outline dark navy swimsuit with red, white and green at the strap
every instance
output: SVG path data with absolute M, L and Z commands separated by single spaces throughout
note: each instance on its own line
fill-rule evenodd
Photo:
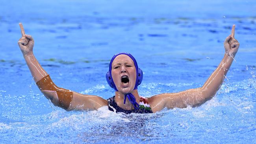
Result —
M 108 109 L 110 111 L 119 113 L 126 113 L 126 114 L 130 114 L 130 113 L 153 113 L 150 105 L 148 104 L 148 100 L 147 98 L 143 98 L 140 97 L 140 101 L 139 101 L 139 109 L 133 109 L 133 110 L 125 110 L 122 109 L 121 107 L 119 107 L 117 105 L 117 102 L 115 102 L 115 96 L 111 97 L 108 99 Z

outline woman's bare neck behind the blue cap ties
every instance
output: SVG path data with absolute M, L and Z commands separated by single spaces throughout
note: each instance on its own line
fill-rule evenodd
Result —
M 136 102 L 139 103 L 140 98 L 139 98 L 138 90 L 135 89 L 131 93 L 134 95 Z M 134 105 L 128 100 L 128 98 L 126 98 L 126 101 L 124 104 L 124 94 L 122 94 L 119 91 L 115 92 L 115 101 L 117 102 L 117 105 L 122 109 L 126 109 L 126 110 L 134 109 Z

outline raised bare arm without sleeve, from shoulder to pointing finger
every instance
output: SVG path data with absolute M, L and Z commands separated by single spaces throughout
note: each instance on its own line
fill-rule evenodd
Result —
M 168 109 L 174 107 L 184 108 L 188 105 L 196 107 L 210 100 L 221 87 L 224 77 L 239 48 L 239 42 L 234 38 L 234 35 L 235 25 L 232 27 L 231 35 L 224 41 L 225 54 L 221 63 L 202 87 L 178 93 L 166 93 L 152 96 L 148 99 L 152 111 L 161 111 L 165 107 Z

